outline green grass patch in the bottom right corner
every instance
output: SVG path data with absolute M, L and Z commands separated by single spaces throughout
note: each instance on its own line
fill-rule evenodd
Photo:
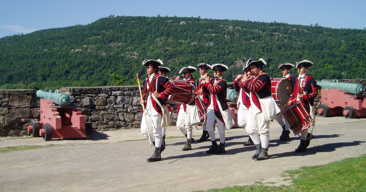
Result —
M 366 155 L 358 158 L 347 158 L 332 162 L 327 165 L 300 167 L 297 170 L 285 171 L 282 177 L 291 178 L 290 186 L 269 186 L 274 182 L 263 183 L 256 181 L 253 185 L 225 187 L 222 189 L 210 189 L 210 192 L 246 192 L 246 191 L 366 191 Z

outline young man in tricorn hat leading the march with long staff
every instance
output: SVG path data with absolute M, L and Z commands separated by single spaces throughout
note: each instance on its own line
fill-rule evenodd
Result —
M 143 100 L 140 104 L 145 104 L 146 108 L 143 111 L 141 122 L 141 133 L 143 136 L 148 136 L 148 134 L 153 134 L 152 141 L 154 141 L 155 149 L 153 155 L 147 159 L 147 162 L 155 162 L 161 160 L 161 151 L 164 150 L 165 146 L 162 145 L 163 135 L 161 133 L 161 121 L 162 121 L 162 109 L 160 105 L 166 105 L 164 99 L 174 93 L 175 87 L 168 80 L 167 77 L 161 76 L 157 73 L 158 66 L 162 65 L 163 62 L 152 59 L 145 59 L 142 62 L 143 66 L 146 66 L 147 78 L 143 81 Z M 154 97 L 156 98 L 154 98 Z M 159 102 L 159 104 L 157 103 Z M 152 133 L 150 129 L 152 128 Z M 149 130 L 149 131 L 148 131 Z

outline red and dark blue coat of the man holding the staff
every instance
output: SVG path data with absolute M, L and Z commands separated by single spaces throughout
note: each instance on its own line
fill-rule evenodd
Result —
M 175 87 L 174 85 L 168 80 L 167 77 L 163 76 L 163 75 L 159 75 L 158 73 L 156 73 L 154 75 L 155 78 L 153 78 L 153 82 L 150 83 L 150 86 L 152 86 L 150 93 L 153 94 L 155 91 L 157 91 L 161 98 L 157 98 L 157 100 L 160 102 L 160 104 L 163 105 L 167 105 L 167 103 L 164 101 L 164 99 L 166 97 L 168 97 L 169 95 L 172 95 L 175 92 Z M 149 78 L 149 77 L 147 77 Z M 146 105 L 146 101 L 147 98 L 145 98 L 145 93 L 147 92 L 147 88 L 146 88 L 146 80 L 147 78 L 143 81 L 143 94 L 142 94 L 142 98 L 145 101 L 145 105 Z M 154 109 L 159 113 L 161 113 L 161 108 L 160 106 L 156 103 L 156 101 L 154 100 L 154 98 L 152 96 L 151 97 L 151 102 L 153 104 Z

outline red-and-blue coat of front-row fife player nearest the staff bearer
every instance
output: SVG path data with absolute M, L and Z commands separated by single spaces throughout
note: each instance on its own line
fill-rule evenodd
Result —
M 221 108 L 224 111 L 228 110 L 229 107 L 228 107 L 228 104 L 226 102 L 227 84 L 226 84 L 225 80 L 220 81 L 215 86 L 213 86 L 213 84 L 214 84 L 214 79 L 212 78 L 210 80 L 210 82 L 206 83 L 203 86 L 202 93 L 204 95 L 210 95 L 211 94 L 212 101 L 213 101 L 214 113 L 215 113 L 216 117 L 219 118 L 220 121 L 222 121 L 224 123 L 223 116 L 221 115 L 221 112 L 219 111 L 218 103 L 220 104 Z M 214 95 L 217 95 L 217 99 L 219 99 L 219 102 L 217 102 L 216 97 Z M 209 102 L 207 104 L 207 108 L 210 106 L 210 104 L 211 104 L 211 99 L 209 99 Z

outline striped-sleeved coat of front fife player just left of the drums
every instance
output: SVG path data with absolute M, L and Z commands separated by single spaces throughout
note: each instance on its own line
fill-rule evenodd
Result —
M 262 112 L 259 99 L 272 96 L 271 79 L 269 78 L 269 75 L 262 71 L 253 79 L 244 81 L 244 86 L 246 86 L 246 88 L 249 90 L 255 106 L 257 106 Z M 258 94 L 259 98 L 255 93 Z

